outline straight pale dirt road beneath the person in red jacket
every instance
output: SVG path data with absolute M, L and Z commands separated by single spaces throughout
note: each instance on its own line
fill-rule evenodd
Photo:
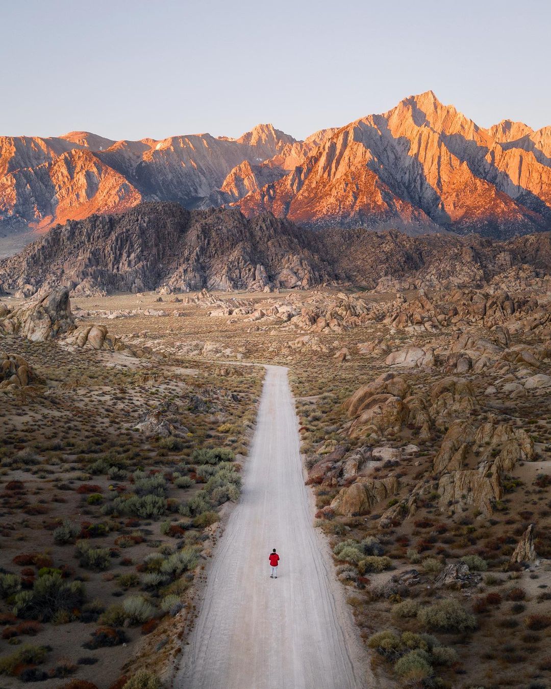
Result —
M 217 546 L 175 686 L 368 686 L 365 651 L 312 517 L 287 369 L 268 366 L 244 491 Z M 277 579 L 272 548 L 281 557 Z

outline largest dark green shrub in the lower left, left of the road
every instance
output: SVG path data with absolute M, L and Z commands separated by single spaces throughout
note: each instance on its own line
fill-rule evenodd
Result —
M 59 574 L 36 579 L 30 591 L 20 591 L 14 599 L 13 613 L 23 619 L 50 621 L 54 615 L 78 608 L 85 597 L 83 582 L 64 582 Z

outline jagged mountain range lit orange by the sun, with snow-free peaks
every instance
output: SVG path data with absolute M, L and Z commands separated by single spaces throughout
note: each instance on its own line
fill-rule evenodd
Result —
M 551 127 L 484 129 L 428 91 L 304 141 L 272 125 L 239 138 L 0 137 L 0 234 L 144 201 L 269 211 L 316 229 L 504 239 L 551 229 Z

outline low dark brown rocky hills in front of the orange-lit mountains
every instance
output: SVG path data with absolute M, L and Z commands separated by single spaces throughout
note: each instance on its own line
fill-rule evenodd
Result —
M 239 209 L 189 211 L 149 202 L 52 228 L 0 261 L 0 292 L 1 285 L 28 297 L 61 285 L 75 295 L 97 295 L 324 284 L 388 291 L 404 288 L 397 282 L 404 279 L 413 288 L 447 290 L 492 280 L 495 287 L 539 284 L 550 271 L 551 232 L 508 240 L 453 233 L 411 237 L 396 230 L 303 228 L 271 213 L 246 218 Z

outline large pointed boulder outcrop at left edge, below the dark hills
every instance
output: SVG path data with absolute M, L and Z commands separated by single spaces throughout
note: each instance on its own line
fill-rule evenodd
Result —
M 0 333 L 19 335 L 33 342 L 52 340 L 73 327 L 69 290 L 65 287 L 11 311 L 6 307 L 0 309 Z

